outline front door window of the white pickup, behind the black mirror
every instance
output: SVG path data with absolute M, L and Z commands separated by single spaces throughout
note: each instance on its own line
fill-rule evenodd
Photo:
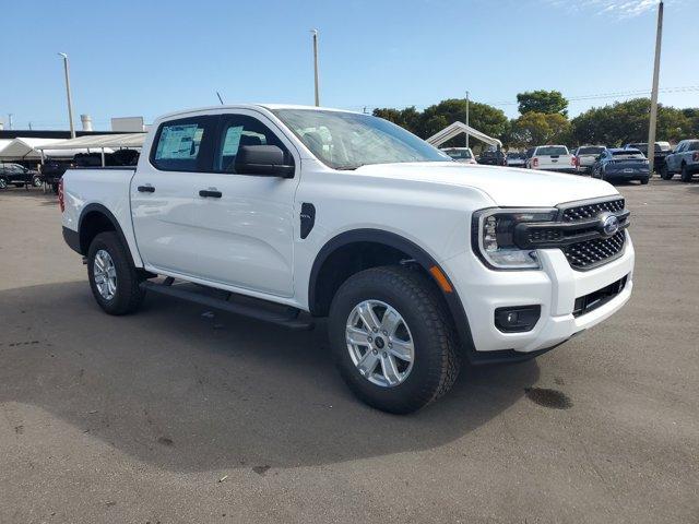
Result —
M 214 170 L 236 172 L 236 156 L 244 145 L 276 145 L 288 154 L 282 141 L 257 118 L 224 115 L 221 119 Z

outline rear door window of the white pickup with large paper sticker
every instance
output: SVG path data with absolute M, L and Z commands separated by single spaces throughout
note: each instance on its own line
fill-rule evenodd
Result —
M 151 164 L 165 171 L 211 171 L 216 117 L 163 122 L 151 150 Z

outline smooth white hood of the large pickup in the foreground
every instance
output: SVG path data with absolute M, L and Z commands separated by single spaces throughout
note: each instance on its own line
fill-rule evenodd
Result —
M 472 188 L 498 206 L 547 207 L 576 200 L 619 194 L 602 180 L 535 169 L 420 162 L 362 166 L 357 175 Z

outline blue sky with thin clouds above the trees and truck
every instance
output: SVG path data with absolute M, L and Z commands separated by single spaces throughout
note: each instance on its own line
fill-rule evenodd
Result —
M 569 114 L 648 96 L 655 0 L 100 0 L 3 2 L 0 120 L 74 121 L 218 104 L 313 103 L 352 110 L 470 97 L 517 117 L 517 93 L 558 90 Z M 666 0 L 660 102 L 699 107 L 699 0 Z M 692 22 L 688 22 L 692 21 Z

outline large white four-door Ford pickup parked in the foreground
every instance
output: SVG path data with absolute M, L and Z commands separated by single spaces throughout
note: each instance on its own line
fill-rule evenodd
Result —
M 462 360 L 541 355 L 632 287 L 607 182 L 460 164 L 348 111 L 168 115 L 135 168 L 70 169 L 59 202 L 107 313 L 149 291 L 288 329 L 328 317 L 344 380 L 392 413 L 446 393 Z

